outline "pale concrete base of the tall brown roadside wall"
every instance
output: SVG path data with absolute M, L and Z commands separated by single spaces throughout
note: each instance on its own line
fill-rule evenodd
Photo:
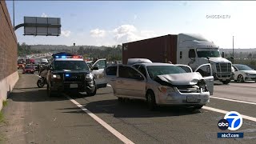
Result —
M 18 82 L 18 71 L 0 81 L 0 110 L 2 110 L 2 102 L 6 101 L 7 95 L 14 89 L 16 82 Z

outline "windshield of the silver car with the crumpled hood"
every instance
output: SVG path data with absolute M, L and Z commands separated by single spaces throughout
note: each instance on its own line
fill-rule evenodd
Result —
M 151 79 L 156 78 L 158 75 L 186 73 L 179 66 L 146 66 L 146 69 Z

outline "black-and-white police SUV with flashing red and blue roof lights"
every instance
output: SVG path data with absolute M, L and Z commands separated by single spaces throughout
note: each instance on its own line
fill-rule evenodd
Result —
M 47 66 L 47 95 L 54 96 L 65 90 L 77 90 L 93 96 L 97 86 L 94 75 L 82 56 L 68 53 L 52 55 Z

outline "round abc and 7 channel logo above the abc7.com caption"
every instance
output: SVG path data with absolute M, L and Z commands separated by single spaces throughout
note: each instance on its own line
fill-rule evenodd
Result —
M 242 115 L 236 111 L 228 112 L 224 119 L 218 121 L 220 130 L 238 130 L 242 126 Z

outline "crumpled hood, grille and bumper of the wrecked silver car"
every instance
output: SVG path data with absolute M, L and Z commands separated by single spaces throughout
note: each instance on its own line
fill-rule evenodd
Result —
M 201 74 L 169 74 L 159 75 L 155 79 L 161 86 L 167 86 L 167 90 L 158 90 L 159 105 L 206 105 L 210 102 L 210 92 L 204 88 L 206 83 Z M 201 82 L 204 82 L 203 84 Z M 198 83 L 200 82 L 200 84 Z M 201 86 L 199 86 L 201 85 Z

